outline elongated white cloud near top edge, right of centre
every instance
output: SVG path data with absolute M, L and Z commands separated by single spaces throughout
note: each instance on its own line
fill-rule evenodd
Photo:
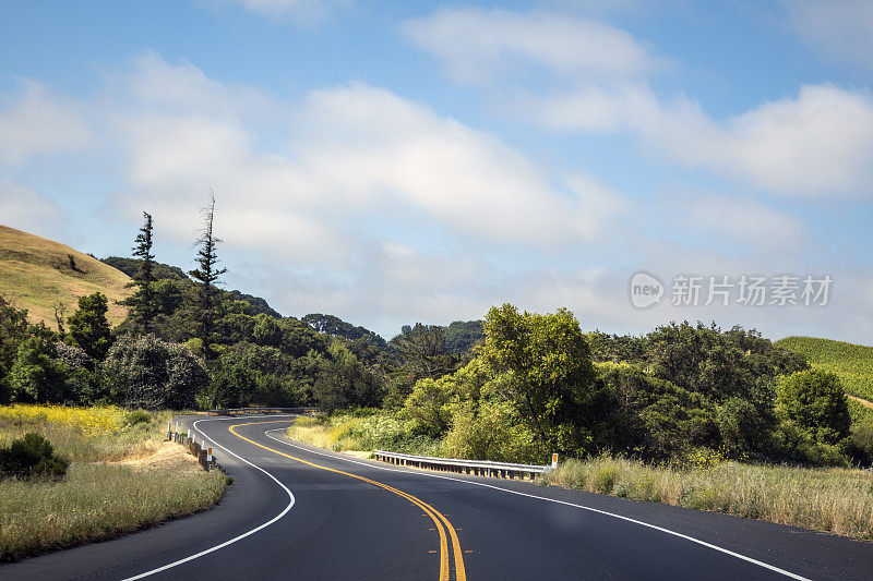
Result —
M 639 76 L 659 66 L 624 31 L 549 12 L 440 10 L 407 21 L 403 32 L 464 82 L 488 82 L 526 65 L 574 78 Z

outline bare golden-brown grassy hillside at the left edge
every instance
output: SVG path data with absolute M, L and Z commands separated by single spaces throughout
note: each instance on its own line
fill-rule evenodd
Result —
M 120 270 L 65 244 L 0 225 L 0 294 L 26 308 L 33 323 L 43 320 L 55 328 L 59 301 L 69 317 L 79 296 L 100 291 L 109 298 L 109 323 L 118 325 L 127 308 L 116 302 L 133 292 L 125 288 L 130 281 Z

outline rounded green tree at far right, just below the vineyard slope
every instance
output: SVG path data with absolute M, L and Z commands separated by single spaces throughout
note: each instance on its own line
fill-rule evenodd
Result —
M 776 389 L 776 411 L 822 444 L 846 438 L 852 423 L 839 377 L 821 370 L 784 377 Z

